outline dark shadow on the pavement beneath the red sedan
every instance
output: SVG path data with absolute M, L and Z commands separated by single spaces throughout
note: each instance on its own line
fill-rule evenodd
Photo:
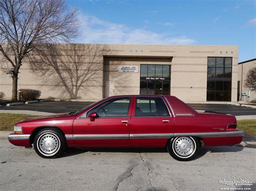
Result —
M 214 147 L 200 147 L 196 158 L 203 157 L 206 153 L 226 153 L 226 152 L 239 152 L 242 151 L 242 146 L 214 146 Z M 93 155 L 102 152 L 116 152 L 116 153 L 167 153 L 166 148 L 68 148 L 66 152 L 59 158 L 70 157 L 72 155 L 92 152 Z

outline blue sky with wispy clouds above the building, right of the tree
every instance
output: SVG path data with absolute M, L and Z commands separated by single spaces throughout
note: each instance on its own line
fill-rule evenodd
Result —
M 238 45 L 256 58 L 256 0 L 68 0 L 78 9 L 79 43 Z

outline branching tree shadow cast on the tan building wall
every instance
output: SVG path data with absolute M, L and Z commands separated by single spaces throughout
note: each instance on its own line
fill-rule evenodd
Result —
M 44 44 L 30 56 L 31 69 L 51 84 L 68 93 L 70 99 L 78 97 L 85 83 L 102 83 L 104 45 Z M 88 83 L 87 83 L 88 84 Z

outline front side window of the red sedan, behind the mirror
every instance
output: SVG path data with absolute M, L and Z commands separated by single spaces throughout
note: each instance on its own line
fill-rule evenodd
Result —
M 96 112 L 99 117 L 126 117 L 130 102 L 130 97 L 111 99 L 90 110 L 87 116 Z

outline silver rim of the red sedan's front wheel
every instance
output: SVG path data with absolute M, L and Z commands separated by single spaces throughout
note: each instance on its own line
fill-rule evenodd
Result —
M 43 155 L 51 156 L 58 152 L 60 140 L 55 133 L 45 132 L 37 139 L 37 147 Z

